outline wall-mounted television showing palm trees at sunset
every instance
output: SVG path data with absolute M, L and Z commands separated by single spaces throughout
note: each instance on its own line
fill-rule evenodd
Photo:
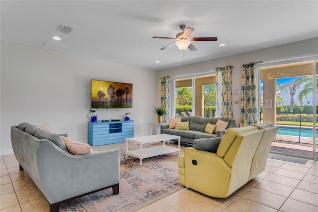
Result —
M 91 108 L 133 107 L 133 84 L 91 80 Z

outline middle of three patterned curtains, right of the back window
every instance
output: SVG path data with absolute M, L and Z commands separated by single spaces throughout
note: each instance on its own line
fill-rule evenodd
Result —
M 216 68 L 216 117 L 233 119 L 232 68 Z

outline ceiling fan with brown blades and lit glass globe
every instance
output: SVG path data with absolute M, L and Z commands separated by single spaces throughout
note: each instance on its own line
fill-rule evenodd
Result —
M 179 32 L 176 34 L 176 37 L 157 37 L 154 36 L 153 38 L 163 38 L 163 39 L 172 39 L 177 40 L 174 43 L 171 43 L 167 46 L 162 47 L 160 50 L 164 50 L 170 46 L 173 46 L 174 44 L 182 51 L 189 48 L 191 51 L 197 50 L 195 46 L 191 43 L 191 41 L 217 41 L 217 37 L 190 37 L 190 34 L 194 31 L 194 28 L 187 27 L 184 31 L 185 24 L 180 25 L 180 29 L 182 29 L 182 32 Z

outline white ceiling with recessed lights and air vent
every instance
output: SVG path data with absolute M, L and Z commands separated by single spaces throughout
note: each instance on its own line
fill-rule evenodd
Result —
M 318 37 L 317 0 L 1 0 L 0 15 L 1 40 L 152 70 Z M 75 30 L 59 32 L 61 24 Z M 179 24 L 218 41 L 159 50 L 174 40 L 152 36 L 175 37 Z

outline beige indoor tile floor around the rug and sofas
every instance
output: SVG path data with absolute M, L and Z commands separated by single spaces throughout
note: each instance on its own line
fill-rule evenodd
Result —
M 1 156 L 0 212 L 48 211 L 48 202 L 28 175 L 19 171 L 14 155 Z M 309 160 L 303 165 L 268 159 L 264 172 L 228 198 L 211 198 L 184 188 L 138 212 L 153 211 L 318 212 L 318 162 Z

